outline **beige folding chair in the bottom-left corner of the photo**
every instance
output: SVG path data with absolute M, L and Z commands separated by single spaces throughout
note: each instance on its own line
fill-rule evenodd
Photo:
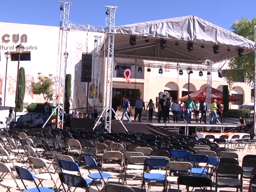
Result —
M 7 188 L 7 191 L 6 192 L 11 192 L 10 189 L 13 188 L 13 187 L 18 187 L 21 190 L 21 186 L 23 185 L 21 180 L 20 179 L 17 179 L 15 177 L 15 175 L 12 174 L 12 170 L 10 169 L 9 166 L 7 166 L 6 164 L 4 163 L 0 163 L 0 178 L 1 178 L 1 182 L 0 182 L 0 185 L 3 186 L 4 188 Z M 4 179 L 4 176 L 3 174 L 10 174 L 12 176 L 12 179 L 8 179 L 8 180 L 5 180 Z M 29 183 L 28 182 L 24 182 L 25 185 L 28 185 Z

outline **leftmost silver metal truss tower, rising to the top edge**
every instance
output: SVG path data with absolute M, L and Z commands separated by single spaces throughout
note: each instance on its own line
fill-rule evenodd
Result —
M 60 1 L 60 65 L 59 65 L 59 95 L 58 95 L 58 117 L 61 116 L 59 126 L 63 129 L 64 119 L 64 97 L 65 97 L 65 79 L 67 64 L 67 36 L 69 31 L 69 9 L 71 2 Z

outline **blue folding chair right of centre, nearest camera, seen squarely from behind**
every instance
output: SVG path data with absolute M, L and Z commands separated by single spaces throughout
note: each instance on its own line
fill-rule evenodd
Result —
M 150 181 L 156 180 L 156 181 L 163 181 L 164 183 L 164 189 L 165 189 L 165 175 L 161 173 L 145 173 L 148 169 L 160 169 L 165 168 L 166 164 L 169 163 L 168 158 L 148 158 L 144 161 L 144 171 L 143 171 L 143 178 L 142 178 L 142 188 L 141 190 L 146 190 L 146 181 L 148 181 L 148 189 L 150 186 Z

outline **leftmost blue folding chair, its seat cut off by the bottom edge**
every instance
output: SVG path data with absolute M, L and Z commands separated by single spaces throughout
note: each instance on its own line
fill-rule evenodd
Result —
M 54 190 L 49 189 L 47 187 L 39 187 L 36 183 L 33 173 L 30 170 L 25 169 L 23 167 L 19 167 L 19 166 L 15 166 L 15 170 L 18 173 L 22 184 L 25 187 L 25 190 L 23 192 L 54 192 Z M 33 181 L 36 187 L 28 189 L 23 180 Z

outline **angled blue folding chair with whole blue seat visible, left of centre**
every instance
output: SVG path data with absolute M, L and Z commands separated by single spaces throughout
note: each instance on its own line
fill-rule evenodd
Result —
M 108 182 L 108 180 L 107 180 L 107 182 L 105 182 L 104 179 L 109 179 L 109 178 L 112 177 L 112 175 L 109 174 L 109 173 L 100 172 L 100 170 L 98 169 L 98 164 L 96 163 L 96 161 L 93 157 L 83 155 L 82 159 L 83 159 L 84 164 L 85 164 L 85 166 L 86 166 L 86 168 L 89 172 L 88 177 L 92 179 L 92 183 L 95 183 L 98 191 L 100 191 L 100 189 L 98 188 L 95 181 L 98 180 L 98 179 L 103 180 L 104 184 L 106 184 Z M 90 172 L 90 167 L 91 168 L 95 167 L 98 170 L 98 173 L 91 173 Z M 91 183 L 91 185 L 92 185 L 92 183 Z M 91 185 L 89 186 L 89 188 L 91 187 Z

